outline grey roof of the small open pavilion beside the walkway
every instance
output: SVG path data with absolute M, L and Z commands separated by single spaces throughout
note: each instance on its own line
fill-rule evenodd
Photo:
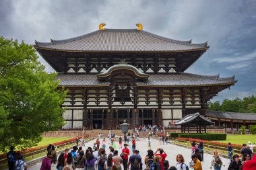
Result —
M 207 125 L 207 124 L 214 124 L 214 122 L 212 122 L 208 118 L 205 118 L 199 113 L 188 114 L 181 120 L 178 120 L 177 122 L 175 122 L 175 125 L 190 125 L 190 124 Z

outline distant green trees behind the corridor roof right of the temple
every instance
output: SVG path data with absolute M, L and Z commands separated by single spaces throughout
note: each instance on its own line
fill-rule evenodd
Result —
M 256 113 L 256 97 L 252 95 L 243 99 L 224 99 L 222 104 L 220 101 L 208 102 L 207 109 L 221 112 Z

